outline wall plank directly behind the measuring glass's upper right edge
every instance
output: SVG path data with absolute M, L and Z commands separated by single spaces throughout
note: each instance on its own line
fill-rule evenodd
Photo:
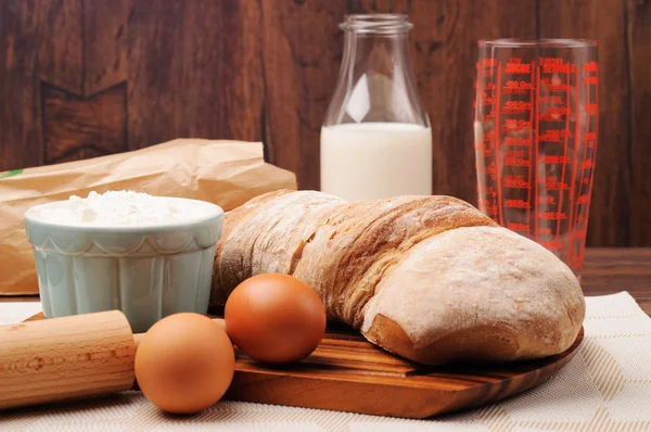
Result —
M 624 0 L 540 0 L 540 36 L 599 41 L 599 139 L 588 244 L 628 243 L 630 84 Z

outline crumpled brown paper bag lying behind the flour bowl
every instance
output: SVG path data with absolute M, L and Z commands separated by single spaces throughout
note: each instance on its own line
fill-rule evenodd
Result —
M 178 139 L 128 153 L 0 174 L 0 295 L 36 294 L 23 215 L 89 192 L 133 190 L 204 200 L 230 211 L 261 193 L 296 189 L 294 174 L 266 164 L 259 142 Z

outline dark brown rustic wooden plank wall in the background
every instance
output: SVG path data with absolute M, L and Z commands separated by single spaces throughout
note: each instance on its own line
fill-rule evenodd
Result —
M 176 137 L 263 140 L 318 188 L 346 12 L 406 12 L 434 190 L 475 198 L 476 40 L 599 40 L 588 242 L 651 245 L 649 0 L 0 0 L 0 170 Z

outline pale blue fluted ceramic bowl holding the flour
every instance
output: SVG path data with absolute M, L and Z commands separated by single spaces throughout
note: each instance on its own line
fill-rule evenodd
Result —
M 171 314 L 206 314 L 224 211 L 207 202 L 165 200 L 205 205 L 205 216 L 168 225 L 93 227 L 38 219 L 40 211 L 66 201 L 27 211 L 44 316 L 119 309 L 135 332 L 143 332 Z

